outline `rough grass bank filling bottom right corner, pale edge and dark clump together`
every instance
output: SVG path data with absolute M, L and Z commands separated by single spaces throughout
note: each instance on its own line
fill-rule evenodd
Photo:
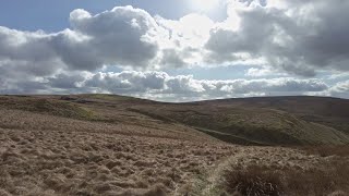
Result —
M 323 146 L 321 149 L 334 148 Z M 183 186 L 182 193 L 201 196 L 345 196 L 349 194 L 349 148 L 336 149 L 340 157 L 337 152 L 320 157 L 320 154 L 289 148 L 244 147 L 214 169 L 192 179 Z

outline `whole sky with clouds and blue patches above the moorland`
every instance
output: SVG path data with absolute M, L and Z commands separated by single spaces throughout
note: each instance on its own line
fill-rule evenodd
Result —
M 11 0 L 0 94 L 349 98 L 349 1 Z

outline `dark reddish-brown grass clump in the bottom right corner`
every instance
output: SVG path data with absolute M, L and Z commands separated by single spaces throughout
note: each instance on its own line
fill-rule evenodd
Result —
M 349 194 L 348 162 L 332 162 L 325 170 L 274 170 L 260 166 L 224 172 L 222 188 L 246 196 Z

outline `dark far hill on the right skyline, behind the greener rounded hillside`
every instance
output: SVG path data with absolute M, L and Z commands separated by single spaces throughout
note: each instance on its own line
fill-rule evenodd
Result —
M 255 97 L 203 101 L 205 106 L 269 108 L 349 134 L 349 100 L 330 97 Z

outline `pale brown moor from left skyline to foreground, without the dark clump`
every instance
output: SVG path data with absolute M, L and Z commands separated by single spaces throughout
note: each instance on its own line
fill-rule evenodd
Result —
M 227 167 L 348 163 L 346 156 L 228 144 L 144 110 L 164 106 L 103 95 L 0 97 L 0 196 L 215 195 Z

